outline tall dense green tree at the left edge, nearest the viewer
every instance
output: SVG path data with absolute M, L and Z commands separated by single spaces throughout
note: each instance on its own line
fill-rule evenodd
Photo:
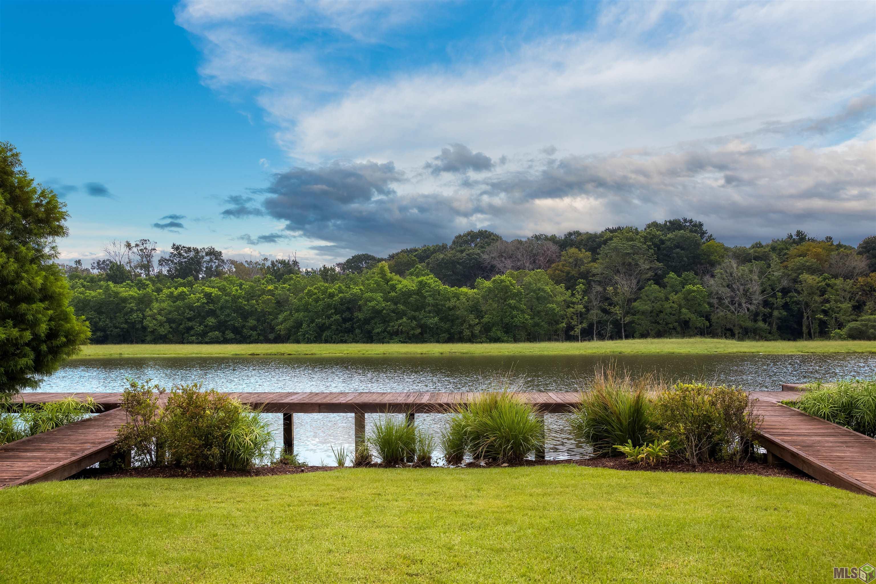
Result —
M 36 387 L 88 340 L 54 244 L 67 212 L 34 184 L 15 147 L 0 143 L 0 393 Z

